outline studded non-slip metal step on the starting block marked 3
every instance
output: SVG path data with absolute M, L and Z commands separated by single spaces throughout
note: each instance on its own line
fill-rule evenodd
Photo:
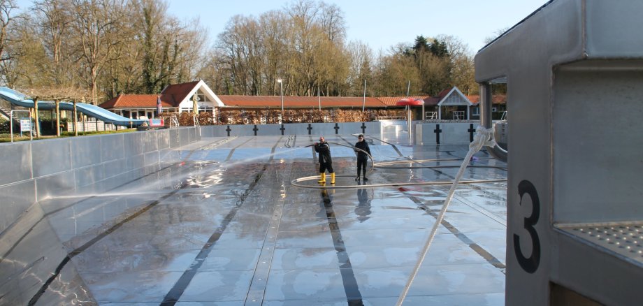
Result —
M 558 228 L 643 265 L 643 224 L 583 224 Z

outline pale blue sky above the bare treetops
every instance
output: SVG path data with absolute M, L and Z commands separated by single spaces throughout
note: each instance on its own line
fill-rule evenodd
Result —
M 324 0 L 344 13 L 349 41 L 370 45 L 377 54 L 416 36 L 447 34 L 460 38 L 471 54 L 499 29 L 512 27 L 547 0 Z M 170 12 L 180 18 L 199 17 L 214 43 L 234 15 L 255 17 L 280 10 L 287 0 L 170 0 Z

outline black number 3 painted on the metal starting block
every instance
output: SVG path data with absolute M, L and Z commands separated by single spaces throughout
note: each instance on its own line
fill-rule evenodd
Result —
M 528 194 L 531 198 L 531 215 L 525 218 L 524 224 L 531 238 L 531 256 L 525 257 L 523 255 L 520 249 L 520 236 L 516 234 L 514 234 L 514 252 L 516 252 L 516 258 L 518 258 L 518 263 L 523 270 L 528 273 L 533 273 L 538 270 L 538 265 L 540 264 L 540 239 L 534 228 L 540 217 L 540 200 L 538 199 L 536 187 L 528 180 L 523 180 L 518 184 L 518 194 L 520 196 L 520 205 L 523 203 L 525 194 Z

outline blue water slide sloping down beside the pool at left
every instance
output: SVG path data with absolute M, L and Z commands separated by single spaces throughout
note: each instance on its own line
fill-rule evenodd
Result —
M 16 92 L 7 87 L 0 87 L 0 98 L 9 101 L 13 105 L 23 106 L 25 108 L 34 108 L 34 100 L 31 100 L 26 94 Z M 73 110 L 73 103 L 60 102 L 60 110 Z M 54 110 L 56 103 L 54 101 L 38 101 L 38 110 Z M 76 102 L 76 110 L 89 117 L 103 120 L 104 122 L 120 125 L 120 126 L 140 126 L 147 120 L 143 119 L 129 119 L 121 115 L 117 115 L 109 110 L 100 108 L 96 105 Z

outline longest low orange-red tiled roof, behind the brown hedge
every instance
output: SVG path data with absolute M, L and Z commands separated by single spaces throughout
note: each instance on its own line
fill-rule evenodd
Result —
M 245 108 L 281 108 L 281 96 L 219 96 L 226 106 Z M 370 108 L 386 107 L 380 99 L 367 97 L 322 96 L 321 107 L 356 107 L 361 108 L 362 103 Z M 317 108 L 317 96 L 284 96 L 284 108 Z

